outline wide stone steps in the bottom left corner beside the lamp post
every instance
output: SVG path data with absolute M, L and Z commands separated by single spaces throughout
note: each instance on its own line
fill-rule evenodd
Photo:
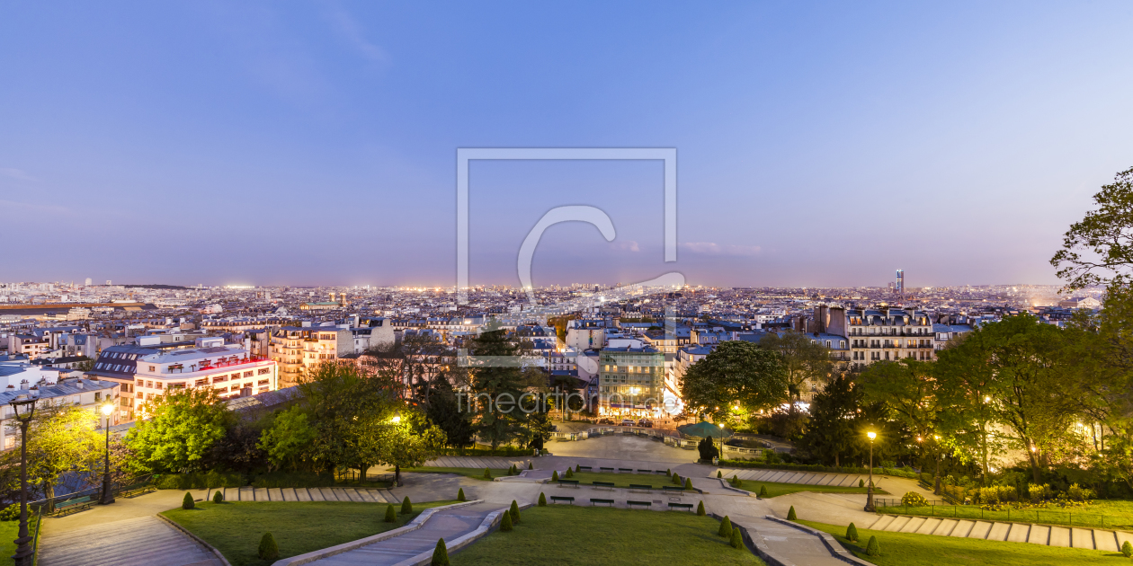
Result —
M 40 566 L 221 566 L 215 555 L 164 521 L 127 518 L 40 541 Z

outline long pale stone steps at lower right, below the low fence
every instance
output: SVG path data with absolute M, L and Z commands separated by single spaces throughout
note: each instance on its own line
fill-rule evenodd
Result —
M 877 521 L 864 529 L 963 539 L 1030 542 L 1050 547 L 1087 548 L 1111 552 L 1122 548 L 1125 541 L 1133 543 L 1133 533 L 1124 531 L 908 515 L 880 515 Z

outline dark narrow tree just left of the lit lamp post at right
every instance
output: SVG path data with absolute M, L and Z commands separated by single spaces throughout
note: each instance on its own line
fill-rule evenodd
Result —
M 845 377 L 826 384 L 810 403 L 810 420 L 800 445 L 823 463 L 842 465 L 842 456 L 853 449 L 858 431 L 861 393 Z

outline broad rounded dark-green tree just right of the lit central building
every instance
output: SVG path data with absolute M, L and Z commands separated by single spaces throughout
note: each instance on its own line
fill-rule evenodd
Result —
M 786 400 L 787 374 L 775 352 L 742 341 L 722 342 L 689 367 L 681 381 L 685 406 L 717 422 L 739 404 L 748 411 Z

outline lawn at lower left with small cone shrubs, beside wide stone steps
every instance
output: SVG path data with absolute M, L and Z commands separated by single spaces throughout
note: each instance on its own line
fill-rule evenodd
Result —
M 266 566 L 273 560 L 256 557 L 259 539 L 271 532 L 280 557 L 301 555 L 389 531 L 418 513 L 457 501 L 414 505 L 414 514 L 385 523 L 385 505 L 334 501 L 198 503 L 194 509 L 170 509 L 162 515 L 176 521 L 212 544 L 232 566 Z M 400 506 L 394 506 L 398 512 Z

